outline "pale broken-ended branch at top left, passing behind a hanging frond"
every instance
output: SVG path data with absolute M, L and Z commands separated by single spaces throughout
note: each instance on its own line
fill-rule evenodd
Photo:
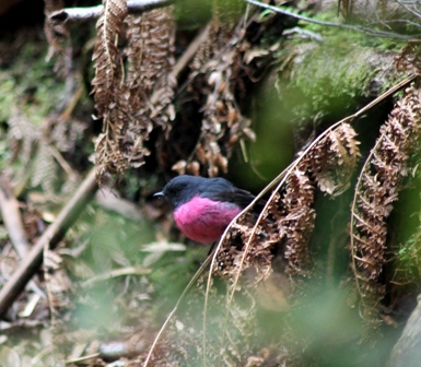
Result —
M 152 9 L 169 5 L 174 0 L 129 0 L 127 10 L 129 14 L 140 14 Z M 65 8 L 49 15 L 54 25 L 65 23 L 81 23 L 100 17 L 103 5 L 89 8 Z

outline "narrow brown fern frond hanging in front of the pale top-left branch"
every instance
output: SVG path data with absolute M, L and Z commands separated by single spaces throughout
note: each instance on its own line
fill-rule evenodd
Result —
M 126 168 L 120 140 L 127 128 L 128 91 L 124 84 L 121 54 L 117 48 L 126 15 L 125 0 L 104 0 L 96 23 L 95 78 L 92 85 L 95 108 L 98 118 L 103 118 L 103 134 L 98 137 L 95 147 L 98 178 L 107 171 L 119 176 Z

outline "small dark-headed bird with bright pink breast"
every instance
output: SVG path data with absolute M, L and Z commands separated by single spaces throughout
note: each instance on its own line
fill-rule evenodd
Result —
M 211 245 L 254 199 L 250 192 L 222 178 L 182 175 L 169 180 L 154 197 L 173 208 L 177 227 L 200 244 Z

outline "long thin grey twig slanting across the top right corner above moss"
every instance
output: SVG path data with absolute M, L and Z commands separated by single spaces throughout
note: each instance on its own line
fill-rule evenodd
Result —
M 278 8 L 278 7 L 273 7 L 273 5 L 264 3 L 264 2 L 258 1 L 258 0 L 245 0 L 245 1 L 247 1 L 248 3 L 252 3 L 254 5 L 271 10 L 276 13 L 280 13 L 280 14 L 284 14 L 284 15 L 297 19 L 300 21 L 304 21 L 304 22 L 308 22 L 308 23 L 313 23 L 313 24 L 319 24 L 319 25 L 324 25 L 324 26 L 336 27 L 336 28 L 355 31 L 355 32 L 365 33 L 365 34 L 369 34 L 372 36 L 389 37 L 389 38 L 398 38 L 398 39 L 413 39 L 414 37 L 419 36 L 419 35 L 402 35 L 402 34 L 393 33 L 393 32 L 376 31 L 373 28 L 356 26 L 356 25 L 351 25 L 351 24 L 340 24 L 340 23 L 334 23 L 334 22 L 318 21 L 318 20 L 315 20 L 313 17 L 308 17 L 308 16 L 304 16 L 304 15 L 300 15 L 300 14 L 290 12 L 290 11 L 282 9 L 282 8 Z

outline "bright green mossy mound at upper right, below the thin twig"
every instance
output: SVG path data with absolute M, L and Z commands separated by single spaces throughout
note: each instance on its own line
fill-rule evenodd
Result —
M 338 22 L 331 15 L 318 17 Z M 281 99 L 293 96 L 290 108 L 297 121 L 313 120 L 316 115 L 344 117 L 405 78 L 395 71 L 390 52 L 404 43 L 316 24 L 306 23 L 303 28 L 321 36 L 323 42 L 295 37 L 279 55 L 280 60 L 294 55 L 289 78 L 285 69 L 279 75 L 278 92 Z

